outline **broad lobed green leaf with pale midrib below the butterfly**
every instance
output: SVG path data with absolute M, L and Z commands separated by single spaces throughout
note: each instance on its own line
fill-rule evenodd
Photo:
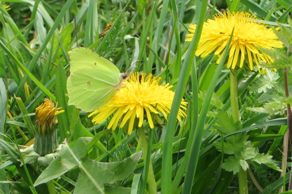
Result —
M 122 162 L 96 162 L 87 158 L 82 160 L 82 154 L 86 152 L 91 140 L 92 138 L 79 138 L 69 144 L 66 143 L 61 149 L 60 156 L 50 163 L 34 185 L 37 186 L 58 178 L 78 166 L 80 174 L 74 194 L 103 194 L 105 193 L 103 191 L 105 183 L 112 184 L 117 180 L 128 178 L 132 174 L 139 162 L 141 152 L 133 154 Z M 130 189 L 128 191 L 130 193 Z

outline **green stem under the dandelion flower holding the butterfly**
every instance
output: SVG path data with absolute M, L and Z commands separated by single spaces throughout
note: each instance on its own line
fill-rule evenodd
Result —
M 149 145 L 151 144 L 151 140 L 152 138 L 150 138 L 150 136 L 152 137 L 152 131 L 153 129 L 149 130 Z M 151 133 L 151 134 L 150 134 Z M 155 182 L 155 177 L 154 177 L 154 173 L 153 173 L 153 167 L 152 167 L 152 162 L 150 160 L 150 150 L 148 150 L 148 142 L 147 142 L 147 138 L 146 138 L 146 134 L 144 131 L 143 127 L 139 127 L 137 129 L 137 134 L 139 136 L 140 142 L 141 142 L 141 146 L 142 146 L 142 153 L 143 153 L 143 159 L 144 159 L 144 170 L 143 173 L 144 176 L 146 178 L 142 178 L 142 186 L 140 188 L 140 193 L 144 194 L 144 188 L 145 188 L 145 184 L 144 181 L 145 179 L 147 179 L 147 191 L 149 194 L 157 194 L 157 187 L 156 187 L 156 182 Z M 148 162 L 147 162 L 148 161 Z M 148 167 L 148 168 L 147 168 Z

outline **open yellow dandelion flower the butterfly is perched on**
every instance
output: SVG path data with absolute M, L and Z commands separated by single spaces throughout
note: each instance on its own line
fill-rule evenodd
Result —
M 154 128 L 151 113 L 163 114 L 165 118 L 169 114 L 174 92 L 170 90 L 172 86 L 168 83 L 159 84 L 160 77 L 146 76 L 142 73 L 139 81 L 139 73 L 131 73 L 128 81 L 123 83 L 123 87 L 117 92 L 115 97 L 104 107 L 92 112 L 89 116 L 96 114 L 92 122 L 96 124 L 103 122 L 113 113 L 108 129 L 116 129 L 121 120 L 121 127 L 128 122 L 128 134 L 132 133 L 135 119 L 138 119 L 138 126 L 141 127 L 144 121 L 144 113 L 151 129 Z M 182 100 L 181 109 L 177 119 L 186 116 L 183 110 L 186 109 L 187 102 Z

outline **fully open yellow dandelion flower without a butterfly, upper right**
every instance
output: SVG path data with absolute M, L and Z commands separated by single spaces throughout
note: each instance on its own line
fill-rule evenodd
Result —
M 185 41 L 192 40 L 196 25 L 191 24 L 189 28 L 191 33 L 187 34 L 189 38 Z M 263 49 L 283 47 L 282 42 L 276 40 L 277 36 L 272 28 L 257 23 L 256 16 L 244 12 L 224 12 L 223 15 L 218 14 L 214 19 L 208 19 L 204 23 L 196 55 L 205 57 L 214 52 L 218 55 L 216 63 L 219 64 L 233 29 L 227 61 L 228 68 L 234 69 L 236 66 L 241 68 L 243 62 L 247 59 L 246 64 L 251 70 L 253 69 L 253 63 L 256 63 L 258 69 L 260 69 L 259 63 L 271 63 L 273 59 L 260 52 L 257 47 Z

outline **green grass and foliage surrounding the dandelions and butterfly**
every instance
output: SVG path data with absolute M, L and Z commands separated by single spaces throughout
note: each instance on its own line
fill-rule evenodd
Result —
M 292 9 L 291 0 L 226 2 L 219 9 L 249 11 L 274 25 L 275 21 L 287 24 Z M 9 9 L 4 8 L 5 3 Z M 153 129 L 151 161 L 157 191 L 182 193 L 183 186 L 190 185 L 193 194 L 238 192 L 236 175 L 221 168 L 227 156 L 214 146 L 221 140 L 215 128 L 218 110 L 230 110 L 229 72 L 217 72 L 213 56 L 196 58 L 197 68 L 192 68 L 195 44 L 184 42 L 189 24 L 202 23 L 223 10 L 205 0 L 10 0 L 0 4 L 0 192 L 53 192 L 47 189 L 52 186 L 49 184 L 34 189 L 34 181 L 43 169 L 20 165 L 20 152 L 15 149 L 32 143 L 35 108 L 45 97 L 65 110 L 57 115 L 59 143 L 65 139 L 73 142 L 80 137 L 95 138 L 91 150 L 85 152 L 97 162 L 120 162 L 140 150 L 135 132 L 128 135 L 123 129 L 105 130 L 106 121 L 94 126 L 88 114 L 67 105 L 66 79 L 70 69 L 67 52 L 78 46 L 91 48 L 110 59 L 121 72 L 141 60 L 135 70 L 161 76 L 162 81 L 174 85 L 176 96 L 168 123 Z M 110 22 L 114 23 L 104 35 Z M 283 103 L 274 103 L 284 96 L 283 75 L 281 71 L 277 73 L 279 76 L 274 79 L 241 70 L 237 80 L 242 83 L 238 89 L 242 131 L 247 132 L 248 140 L 260 153 L 273 155 L 280 166 L 287 119 Z M 292 82 L 291 74 L 289 81 Z M 266 92 L 258 92 L 259 88 Z M 182 97 L 189 105 L 187 117 L 178 123 L 176 110 Z M 246 107 L 266 109 L 256 113 Z M 146 134 L 151 130 L 147 124 L 145 130 Z M 192 147 L 198 151 L 191 153 Z M 188 161 L 195 161 L 194 165 L 187 165 Z M 289 174 L 280 178 L 280 172 L 250 162 L 266 194 L 278 193 L 286 185 Z M 128 178 L 118 179 L 112 186 L 139 192 L 145 184 L 145 165 L 148 163 L 141 159 Z M 288 166 L 291 167 L 290 162 Z M 73 168 L 54 179 L 50 184 L 55 192 L 73 193 L 79 170 Z M 194 171 L 193 179 L 185 178 L 187 171 Z M 248 181 L 250 193 L 259 193 L 250 178 Z M 87 183 L 82 187 L 86 188 Z

